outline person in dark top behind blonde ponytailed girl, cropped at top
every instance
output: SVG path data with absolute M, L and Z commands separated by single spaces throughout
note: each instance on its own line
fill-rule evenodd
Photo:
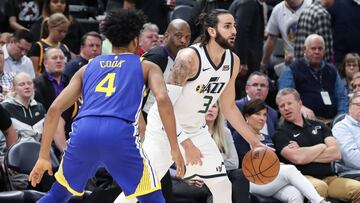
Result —
M 71 52 L 79 54 L 81 44 L 80 40 L 84 35 L 84 29 L 81 24 L 70 15 L 69 0 L 44 0 L 42 8 L 41 18 L 30 28 L 31 33 L 34 35 L 34 40 L 41 40 L 41 27 L 46 18 L 49 18 L 54 13 L 62 13 L 70 22 L 68 32 L 62 42 L 69 46 Z

